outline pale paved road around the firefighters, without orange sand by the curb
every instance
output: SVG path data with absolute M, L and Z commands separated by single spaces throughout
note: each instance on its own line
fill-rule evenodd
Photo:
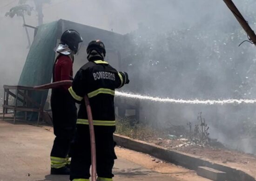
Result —
M 69 181 L 49 175 L 53 139 L 47 128 L 0 121 L 0 181 Z M 114 174 L 115 181 L 178 181 L 125 159 L 117 159 Z

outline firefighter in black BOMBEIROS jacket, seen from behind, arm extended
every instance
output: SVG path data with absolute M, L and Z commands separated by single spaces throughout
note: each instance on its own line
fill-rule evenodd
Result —
M 80 102 L 76 123 L 74 153 L 72 152 L 70 180 L 89 181 L 91 166 L 90 134 L 88 116 L 83 97 L 88 96 L 93 116 L 96 143 L 97 181 L 112 181 L 115 155 L 115 89 L 129 83 L 126 72 L 118 72 L 108 62 L 105 46 L 101 40 L 93 40 L 87 48 L 88 63 L 76 73 L 68 89 Z

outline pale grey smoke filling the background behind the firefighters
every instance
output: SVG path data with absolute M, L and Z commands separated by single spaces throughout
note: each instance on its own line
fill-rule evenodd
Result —
M 27 56 L 20 17 L 5 17 L 19 0 L 0 2 L 2 84 L 16 84 Z M 34 6 L 33 1 L 27 1 Z M 234 0 L 256 30 L 256 2 Z M 176 99 L 256 98 L 256 49 L 222 0 L 51 0 L 44 23 L 67 19 L 125 34 L 123 71 L 128 91 Z M 36 12 L 26 23 L 37 26 Z M 29 29 L 30 38 L 33 30 Z M 87 43 L 87 42 L 85 42 Z M 210 137 L 256 153 L 256 105 L 183 105 L 141 102 L 148 124 L 196 122 L 202 111 Z

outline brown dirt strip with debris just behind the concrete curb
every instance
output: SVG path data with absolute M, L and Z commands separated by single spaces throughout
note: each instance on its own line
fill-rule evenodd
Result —
M 154 141 L 148 141 L 155 143 L 167 149 L 179 150 L 191 155 L 199 156 L 210 162 L 220 163 L 228 167 L 243 170 L 249 175 L 256 178 L 256 156 L 251 154 L 245 154 L 236 150 L 230 150 L 223 146 L 202 146 L 199 144 L 191 144 L 187 139 L 162 139 L 157 138 Z

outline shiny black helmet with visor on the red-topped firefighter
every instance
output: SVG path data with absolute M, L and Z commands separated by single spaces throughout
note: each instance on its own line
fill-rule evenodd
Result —
M 83 42 L 83 39 L 79 32 L 75 30 L 67 30 L 61 35 L 61 43 L 67 44 L 70 50 L 73 50 L 74 53 L 78 51 L 78 44 Z

